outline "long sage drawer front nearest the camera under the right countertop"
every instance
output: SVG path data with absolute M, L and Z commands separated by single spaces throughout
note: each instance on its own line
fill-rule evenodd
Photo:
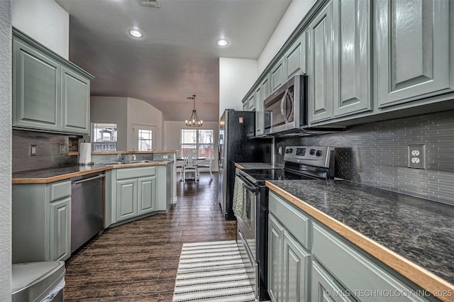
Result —
M 361 290 L 391 293 L 410 293 L 414 291 L 404 284 L 397 276 L 386 272 L 379 264 L 367 259 L 357 252 L 341 237 L 326 230 L 323 226 L 314 223 L 312 237 L 312 253 L 331 274 L 342 281 L 351 293 Z M 333 257 L 336 255 L 336 257 Z M 378 260 L 377 260 L 378 261 Z M 404 278 L 404 277 L 402 277 Z M 377 297 L 361 296 L 361 301 L 377 301 Z M 375 299 L 375 300 L 374 300 Z M 392 301 L 426 301 L 416 295 L 396 296 Z

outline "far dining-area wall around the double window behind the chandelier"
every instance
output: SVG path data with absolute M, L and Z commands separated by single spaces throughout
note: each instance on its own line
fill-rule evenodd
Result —
M 165 121 L 164 122 L 164 150 L 178 150 L 179 153 L 179 142 L 181 141 L 180 134 L 182 129 L 190 129 L 182 121 Z M 214 130 L 214 158 L 211 163 L 211 171 L 218 171 L 218 134 L 219 124 L 217 122 L 204 122 L 204 125 L 199 129 L 213 129 Z

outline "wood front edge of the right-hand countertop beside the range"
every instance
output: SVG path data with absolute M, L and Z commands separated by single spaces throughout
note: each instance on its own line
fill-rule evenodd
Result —
M 265 184 L 272 191 L 275 191 L 275 193 L 279 194 L 283 198 L 286 198 L 295 206 L 305 211 L 310 216 L 316 218 L 328 228 L 331 228 L 331 230 L 333 230 L 334 232 L 345 237 L 348 241 L 360 247 L 362 250 L 365 250 L 365 252 L 368 252 L 370 255 L 379 259 L 384 264 L 387 264 L 396 272 L 399 272 L 399 274 L 402 274 L 409 280 L 413 281 L 415 284 L 421 286 L 423 289 L 430 291 L 432 294 L 438 293 L 436 298 L 439 298 L 441 301 L 454 301 L 453 284 L 450 284 L 448 281 L 445 281 L 441 277 L 436 276 L 432 272 L 428 272 L 428 270 L 419 267 L 419 265 L 414 264 L 413 262 L 409 261 L 409 259 L 402 257 L 392 250 L 389 250 L 387 247 L 380 245 L 369 237 L 362 235 L 358 231 L 353 230 L 353 228 L 348 227 L 348 225 L 344 225 L 331 216 L 328 216 L 322 211 L 319 211 L 313 206 L 310 206 L 304 201 L 301 201 L 301 199 L 287 193 L 287 191 L 279 188 L 279 186 L 271 184 L 268 181 L 266 181 Z M 441 293 L 441 291 L 448 291 L 450 293 L 453 293 L 453 295 L 440 296 L 439 293 Z

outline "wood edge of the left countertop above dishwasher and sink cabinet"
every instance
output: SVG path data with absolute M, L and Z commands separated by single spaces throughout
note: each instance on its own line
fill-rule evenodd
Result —
M 67 174 L 61 174 L 54 177 L 35 177 L 35 178 L 13 178 L 11 179 L 12 184 L 48 184 L 54 181 L 60 181 L 70 179 L 72 177 L 78 177 L 85 174 L 91 174 L 96 172 L 102 172 L 110 169 L 123 169 L 131 167 L 145 167 L 145 166 L 162 166 L 167 165 L 169 162 L 141 162 L 138 164 L 114 164 L 106 165 L 96 169 L 90 169 L 86 171 L 72 172 Z

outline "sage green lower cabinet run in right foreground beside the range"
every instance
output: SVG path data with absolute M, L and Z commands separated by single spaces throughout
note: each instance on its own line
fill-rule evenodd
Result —
M 269 209 L 268 292 L 272 301 L 436 300 L 411 295 L 424 291 L 273 191 Z

